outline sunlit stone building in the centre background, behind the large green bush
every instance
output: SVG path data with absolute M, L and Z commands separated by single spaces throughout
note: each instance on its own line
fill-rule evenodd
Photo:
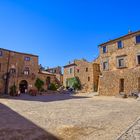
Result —
M 64 66 L 63 84 L 67 87 L 67 80 L 77 77 L 81 83 L 82 92 L 92 92 L 98 89 L 99 64 L 90 63 L 84 59 L 74 60 Z

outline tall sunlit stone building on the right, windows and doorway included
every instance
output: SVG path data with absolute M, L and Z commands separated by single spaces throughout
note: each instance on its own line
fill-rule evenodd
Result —
M 99 45 L 99 94 L 140 92 L 140 31 Z

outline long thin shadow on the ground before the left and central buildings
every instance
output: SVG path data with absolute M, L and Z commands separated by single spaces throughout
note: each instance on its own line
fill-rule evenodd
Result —
M 7 99 L 26 100 L 26 101 L 40 101 L 40 102 L 53 102 L 53 101 L 62 101 L 62 100 L 70 100 L 70 99 L 81 99 L 81 98 L 90 98 L 90 97 L 86 97 L 86 96 L 72 96 L 70 94 L 37 95 L 37 96 L 30 96 L 28 94 L 21 94 L 18 97 L 9 96 Z

